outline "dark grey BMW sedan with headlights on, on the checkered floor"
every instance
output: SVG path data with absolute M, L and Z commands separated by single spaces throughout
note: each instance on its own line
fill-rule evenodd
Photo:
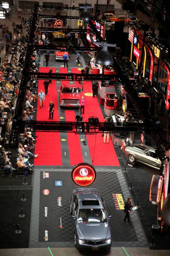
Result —
M 78 249 L 99 250 L 110 248 L 112 235 L 105 202 L 95 188 L 73 190 L 70 205 L 74 221 L 74 243 Z

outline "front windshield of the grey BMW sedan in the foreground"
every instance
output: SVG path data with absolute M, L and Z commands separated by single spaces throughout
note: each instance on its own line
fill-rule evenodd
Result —
M 107 222 L 103 209 L 80 209 L 78 212 L 78 223 L 103 223 Z

